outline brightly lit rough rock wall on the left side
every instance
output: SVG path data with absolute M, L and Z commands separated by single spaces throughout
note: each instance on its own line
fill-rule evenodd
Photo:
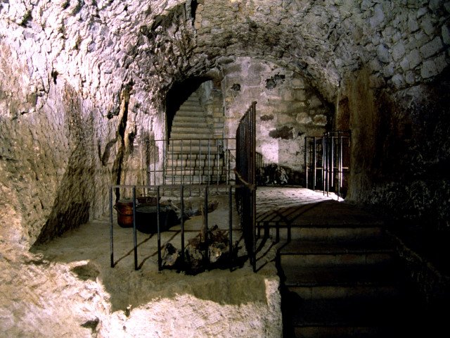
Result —
M 0 4 L 0 238 L 30 246 L 98 217 L 136 168 L 136 125 L 164 121 L 124 64 L 147 2 Z

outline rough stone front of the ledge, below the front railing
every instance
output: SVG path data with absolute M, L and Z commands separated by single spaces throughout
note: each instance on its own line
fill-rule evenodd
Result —
M 0 337 L 281 337 L 276 275 L 111 269 L 41 249 L 0 243 Z

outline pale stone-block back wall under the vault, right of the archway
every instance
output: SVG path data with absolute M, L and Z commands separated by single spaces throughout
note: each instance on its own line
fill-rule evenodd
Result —
M 300 74 L 271 62 L 238 57 L 222 71 L 226 137 L 235 137 L 240 118 L 257 101 L 256 146 L 263 163 L 304 171 L 304 137 L 330 127 L 333 107 Z

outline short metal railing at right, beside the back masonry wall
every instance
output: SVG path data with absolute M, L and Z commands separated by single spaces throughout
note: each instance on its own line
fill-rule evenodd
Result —
M 322 137 L 304 138 L 305 185 L 307 189 L 322 189 L 323 194 L 345 194 L 350 167 L 349 130 L 326 132 Z

